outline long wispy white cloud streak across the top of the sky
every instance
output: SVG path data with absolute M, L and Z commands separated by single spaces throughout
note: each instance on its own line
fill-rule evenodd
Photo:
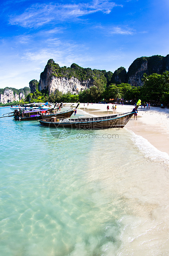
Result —
M 52 21 L 56 23 L 72 21 L 72 19 L 76 20 L 78 17 L 83 17 L 95 12 L 109 14 L 113 7 L 116 6 L 122 7 L 122 5 L 117 5 L 110 0 L 95 0 L 88 4 L 35 4 L 25 9 L 25 12 L 20 15 L 12 15 L 9 18 L 9 23 L 22 27 L 37 28 Z

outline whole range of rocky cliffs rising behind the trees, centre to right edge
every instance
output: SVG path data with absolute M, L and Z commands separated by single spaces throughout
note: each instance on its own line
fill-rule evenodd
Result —
M 93 86 L 95 79 L 102 79 L 106 85 L 110 83 L 129 83 L 132 86 L 142 86 L 141 80 L 144 73 L 150 75 L 152 73 L 162 74 L 169 71 L 169 55 L 166 57 L 155 55 L 152 57 L 141 57 L 134 60 L 130 65 L 128 72 L 124 67 L 120 67 L 114 73 L 106 70 L 83 69 L 77 64 L 72 64 L 70 68 L 62 67 L 50 59 L 40 75 L 39 91 L 49 90 L 49 94 L 59 90 L 60 92 L 79 94 L 80 91 L 86 90 Z M 33 82 L 32 82 L 33 81 Z M 31 92 L 37 88 L 37 80 L 30 82 Z

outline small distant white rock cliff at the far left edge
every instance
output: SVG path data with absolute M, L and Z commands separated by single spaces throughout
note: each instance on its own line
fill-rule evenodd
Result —
M 30 93 L 30 88 L 24 87 L 23 89 L 8 88 L 0 89 L 0 102 L 6 104 L 9 102 L 19 101 L 25 99 L 25 97 Z

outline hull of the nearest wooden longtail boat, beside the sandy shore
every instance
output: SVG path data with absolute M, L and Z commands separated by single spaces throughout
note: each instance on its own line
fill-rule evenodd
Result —
M 125 114 L 117 114 L 113 116 L 103 116 L 94 118 L 80 118 L 80 119 L 68 119 L 52 121 L 49 119 L 39 120 L 43 126 L 55 127 L 55 128 L 75 128 L 79 129 L 108 129 L 108 128 L 123 128 L 130 120 L 134 113 L 129 112 Z

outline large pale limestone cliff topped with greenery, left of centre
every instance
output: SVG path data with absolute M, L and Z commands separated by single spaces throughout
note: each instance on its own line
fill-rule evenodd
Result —
M 80 91 L 95 85 L 98 80 L 106 84 L 106 78 L 100 70 L 83 69 L 77 64 L 72 64 L 70 68 L 61 68 L 50 59 L 40 75 L 39 90 L 48 89 L 49 94 L 56 90 L 79 94 Z

